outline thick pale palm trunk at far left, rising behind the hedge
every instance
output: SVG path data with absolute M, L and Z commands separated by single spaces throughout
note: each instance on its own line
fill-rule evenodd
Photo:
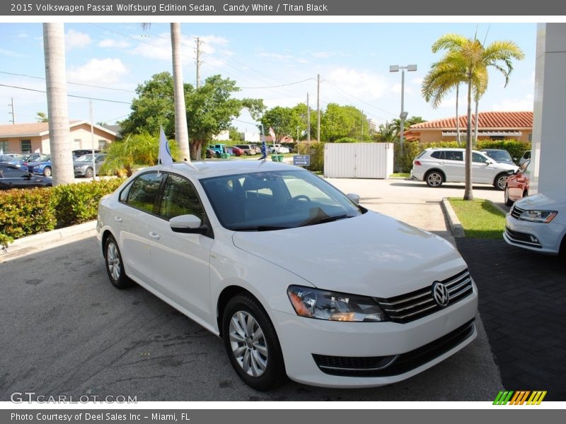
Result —
M 45 55 L 51 169 L 53 185 L 56 186 L 73 182 L 75 177 L 69 139 L 63 23 L 43 24 L 43 54 Z

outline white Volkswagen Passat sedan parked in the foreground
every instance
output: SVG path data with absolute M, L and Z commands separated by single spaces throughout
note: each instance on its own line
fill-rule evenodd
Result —
M 445 240 L 265 161 L 148 168 L 100 201 L 110 281 L 224 339 L 251 387 L 372 387 L 476 336 L 477 289 Z

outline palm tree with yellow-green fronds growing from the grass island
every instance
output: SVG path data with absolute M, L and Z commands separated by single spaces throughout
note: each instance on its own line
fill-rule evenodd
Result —
M 512 59 L 524 59 L 524 53 L 512 41 L 495 41 L 485 47 L 477 38 L 466 38 L 458 34 L 447 34 L 440 37 L 432 52 L 446 50 L 444 58 L 437 62 L 445 69 L 456 72 L 458 78 L 462 71 L 464 81 L 468 85 L 468 113 L 466 119 L 466 189 L 464 200 L 473 200 L 472 192 L 472 93 L 474 100 L 479 100 L 487 89 L 487 69 L 497 69 L 505 77 L 505 86 L 509 83 L 509 74 L 513 70 Z M 454 77 L 454 76 L 453 76 Z

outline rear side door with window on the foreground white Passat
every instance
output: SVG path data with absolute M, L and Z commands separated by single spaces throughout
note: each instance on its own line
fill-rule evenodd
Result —
M 108 217 L 124 261 L 132 278 L 153 284 L 154 264 L 151 262 L 149 221 L 154 218 L 163 173 L 139 175 L 120 193 L 120 202 Z

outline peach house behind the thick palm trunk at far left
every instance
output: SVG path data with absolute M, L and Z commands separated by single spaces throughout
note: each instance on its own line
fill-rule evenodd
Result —
M 86 121 L 69 122 L 69 138 L 71 150 L 94 148 L 102 149 L 116 139 L 116 133 L 100 125 Z M 0 125 L 0 150 L 4 153 L 33 153 L 40 149 L 41 153 L 51 153 L 49 144 L 49 123 L 33 122 L 31 124 Z

